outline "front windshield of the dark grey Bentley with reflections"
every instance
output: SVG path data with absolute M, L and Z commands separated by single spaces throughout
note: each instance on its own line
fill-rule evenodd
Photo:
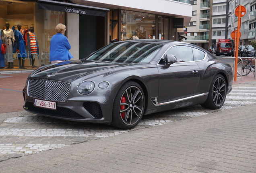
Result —
M 119 42 L 107 45 L 87 60 L 144 64 L 151 62 L 162 46 L 152 42 Z

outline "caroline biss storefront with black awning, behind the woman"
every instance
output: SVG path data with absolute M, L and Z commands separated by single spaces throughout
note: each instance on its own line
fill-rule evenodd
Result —
M 64 4 L 64 5 L 63 5 Z M 30 55 L 31 52 L 29 51 L 29 47 L 27 45 L 26 35 L 27 32 L 30 30 L 30 27 L 34 27 L 34 33 L 37 40 L 38 45 L 38 53 L 34 55 L 35 58 L 35 66 L 41 66 L 43 64 L 50 63 L 50 40 L 54 34 L 56 34 L 55 27 L 57 24 L 62 23 L 66 25 L 67 32 L 65 35 L 68 37 L 70 44 L 72 46 L 72 50 L 70 52 L 76 59 L 79 57 L 79 45 L 83 46 L 86 39 L 79 39 L 82 35 L 87 35 L 90 40 L 97 40 L 97 36 L 93 36 L 93 33 L 83 33 L 83 28 L 87 26 L 93 27 L 95 24 L 94 22 L 86 22 L 86 25 L 83 26 L 85 20 L 93 20 L 96 18 L 96 22 L 98 21 L 97 18 L 101 19 L 101 31 L 105 32 L 105 20 L 107 17 L 107 12 L 109 9 L 105 8 L 97 8 L 91 6 L 83 6 L 83 5 L 76 5 L 70 3 L 60 3 L 60 2 L 53 2 L 47 0 L 38 0 L 37 2 L 23 2 L 23 1 L 0 1 L 0 26 L 2 29 L 2 34 L 4 34 L 3 30 L 6 29 L 6 22 L 10 24 L 10 29 L 17 29 L 17 25 L 21 25 L 21 32 L 23 33 L 23 39 L 26 43 L 26 54 L 23 54 L 20 58 L 21 63 L 22 59 L 25 59 L 25 67 L 31 67 L 31 60 Z M 87 19 L 84 16 L 89 16 Z M 69 19 L 70 22 L 67 22 Z M 80 20 L 79 20 L 80 19 Z M 80 22 L 79 22 L 80 21 Z M 95 21 L 95 20 L 93 20 Z M 103 21 L 103 22 L 102 22 Z M 96 25 L 94 28 L 97 28 Z M 80 31 L 80 34 L 79 34 Z M 95 30 L 96 32 L 96 30 Z M 15 32 L 13 32 L 15 33 Z M 96 48 L 101 48 L 105 46 L 107 40 L 106 34 L 103 34 L 103 38 L 99 38 L 99 42 L 103 43 Z M 16 35 L 14 35 L 14 38 Z M 2 40 L 4 41 L 4 36 L 2 36 Z M 12 39 L 11 39 L 12 40 Z M 105 41 L 104 41 L 105 40 Z M 79 44 L 80 43 L 80 44 Z M 19 58 L 17 52 L 17 46 L 15 47 L 15 41 L 9 44 L 13 45 L 12 48 L 12 60 L 14 68 L 19 68 Z M 89 45 L 93 45 L 92 42 Z M 88 46 L 86 46 L 88 48 Z M 90 48 L 89 48 L 90 49 Z M 83 49 L 81 49 L 83 50 Z M 84 51 L 84 50 L 83 50 Z M 83 51 L 81 53 L 83 53 Z M 7 56 L 4 54 L 4 58 L 6 59 Z M 75 59 L 75 58 L 74 58 Z M 5 67 L 8 67 L 8 62 L 5 62 Z M 1 68 L 0 70 L 2 70 Z

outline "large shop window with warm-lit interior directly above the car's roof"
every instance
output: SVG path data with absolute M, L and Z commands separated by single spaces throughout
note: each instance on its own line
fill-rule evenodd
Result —
M 121 40 L 156 39 L 155 14 L 121 10 Z

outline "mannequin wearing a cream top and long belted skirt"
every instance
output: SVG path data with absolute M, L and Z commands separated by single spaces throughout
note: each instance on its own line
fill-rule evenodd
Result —
M 4 44 L 6 44 L 6 54 L 4 55 L 5 62 L 8 62 L 9 66 L 7 68 L 13 68 L 13 50 L 14 46 L 14 33 L 13 30 L 10 29 L 9 22 L 5 23 L 6 29 L 4 30 Z

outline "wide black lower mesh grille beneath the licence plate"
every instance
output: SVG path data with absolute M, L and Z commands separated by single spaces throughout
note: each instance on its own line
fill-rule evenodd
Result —
M 65 118 L 74 118 L 74 119 L 85 119 L 85 117 L 79 115 L 78 113 L 63 107 L 57 107 L 56 110 L 44 109 L 40 107 L 35 107 L 32 102 L 26 102 L 25 107 L 28 111 L 34 113 L 41 113 L 45 115 L 51 115 L 55 117 L 65 117 Z

